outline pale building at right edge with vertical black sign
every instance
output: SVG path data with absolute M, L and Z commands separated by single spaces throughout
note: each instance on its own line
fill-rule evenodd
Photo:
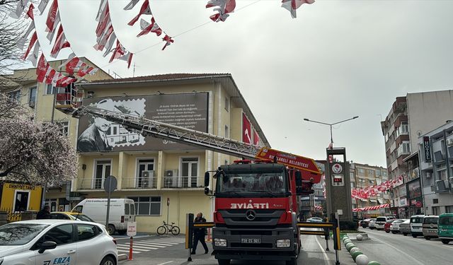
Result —
M 418 157 L 425 214 L 453 213 L 451 120 L 418 138 Z

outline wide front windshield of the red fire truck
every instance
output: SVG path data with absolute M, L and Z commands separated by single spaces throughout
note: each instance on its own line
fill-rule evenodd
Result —
M 244 173 L 217 177 L 216 195 L 229 196 L 285 196 L 287 181 L 284 172 Z

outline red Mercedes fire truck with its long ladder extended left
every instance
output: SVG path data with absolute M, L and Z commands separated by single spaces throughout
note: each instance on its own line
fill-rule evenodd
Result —
M 231 259 L 285 260 L 288 265 L 297 264 L 302 246 L 297 227 L 298 196 L 313 193 L 311 186 L 321 181 L 314 160 L 122 112 L 81 106 L 80 101 L 56 107 L 73 117 L 91 114 L 144 136 L 243 158 L 218 167 L 212 176 L 213 190 L 210 172 L 205 173 L 205 194 L 215 197 L 212 228 L 215 258 L 219 265 L 229 265 Z

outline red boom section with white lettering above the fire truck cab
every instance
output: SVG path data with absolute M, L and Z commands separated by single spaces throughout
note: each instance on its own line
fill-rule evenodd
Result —
M 261 148 L 261 150 L 258 152 L 258 154 L 256 154 L 255 157 L 270 160 L 277 158 L 278 163 L 282 163 L 283 165 L 287 165 L 288 167 L 294 167 L 298 170 L 305 170 L 321 175 L 321 171 L 319 170 L 314 160 L 311 158 L 305 158 L 300 155 L 293 155 L 292 153 L 285 153 L 267 147 Z

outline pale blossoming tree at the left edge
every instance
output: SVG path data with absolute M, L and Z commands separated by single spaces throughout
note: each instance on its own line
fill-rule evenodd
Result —
M 57 186 L 77 175 L 76 151 L 56 124 L 0 92 L 0 177 Z

